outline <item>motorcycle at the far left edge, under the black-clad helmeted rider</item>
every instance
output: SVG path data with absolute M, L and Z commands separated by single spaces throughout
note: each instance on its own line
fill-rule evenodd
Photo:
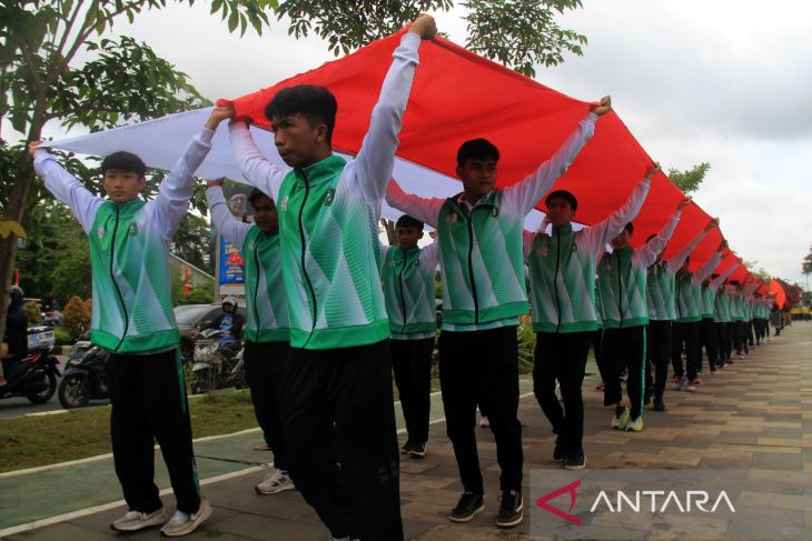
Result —
M 52 350 L 53 345 L 42 344 L 29 349 L 22 359 L 3 360 L 8 383 L 0 387 L 0 399 L 26 397 L 34 404 L 48 402 L 57 391 L 57 375 L 60 375 Z

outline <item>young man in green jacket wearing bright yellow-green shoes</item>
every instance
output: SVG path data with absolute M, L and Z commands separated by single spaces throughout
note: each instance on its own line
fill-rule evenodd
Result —
M 611 240 L 612 253 L 604 253 L 597 266 L 597 287 L 603 310 L 603 358 L 606 388 L 604 405 L 614 405 L 611 427 L 620 430 L 643 430 L 643 400 L 645 394 L 645 325 L 648 323 L 646 304 L 646 270 L 663 251 L 676 229 L 687 199 L 680 201 L 676 212 L 665 227 L 645 244 L 631 247 L 634 228 L 627 223 Z M 623 405 L 621 373 L 627 372 L 626 393 L 630 408 Z

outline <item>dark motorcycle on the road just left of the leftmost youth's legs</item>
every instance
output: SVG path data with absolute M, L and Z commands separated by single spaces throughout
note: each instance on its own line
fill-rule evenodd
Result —
M 59 403 L 62 408 L 83 408 L 90 400 L 110 398 L 108 360 L 110 354 L 88 341 L 75 344 L 59 383 Z

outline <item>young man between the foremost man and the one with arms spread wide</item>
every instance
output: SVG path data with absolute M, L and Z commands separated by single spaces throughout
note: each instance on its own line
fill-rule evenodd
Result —
M 382 247 L 380 283 L 392 332 L 392 369 L 395 373 L 406 443 L 403 454 L 423 458 L 428 441 L 432 393 L 432 354 L 437 328 L 434 275 L 437 241 L 419 248 L 423 222 L 404 214 L 395 223 L 396 247 Z

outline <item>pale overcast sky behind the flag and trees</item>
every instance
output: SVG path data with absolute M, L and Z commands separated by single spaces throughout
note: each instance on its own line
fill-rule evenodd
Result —
M 208 2 L 170 6 L 119 24 L 210 99 L 269 87 L 334 56 L 274 22 L 229 34 Z M 582 100 L 612 94 L 617 113 L 664 168 L 709 161 L 695 200 L 719 216 L 731 247 L 771 274 L 804 282 L 812 244 L 812 2 L 584 0 L 562 24 L 588 38 L 536 79 Z M 463 43 L 461 11 L 438 27 Z M 52 136 L 61 133 L 52 128 Z

